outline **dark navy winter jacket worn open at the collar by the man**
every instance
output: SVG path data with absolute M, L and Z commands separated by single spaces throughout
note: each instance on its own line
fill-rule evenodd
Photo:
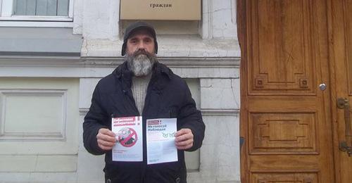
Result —
M 112 161 L 111 151 L 103 151 L 96 141 L 100 128 L 111 130 L 111 117 L 140 115 L 132 91 L 132 72 L 127 63 L 122 63 L 111 75 L 96 84 L 92 105 L 84 118 L 84 147 L 94 155 L 105 156 L 105 177 L 111 182 L 187 182 L 184 151 L 178 151 L 178 161 L 171 163 L 146 164 L 146 119 L 177 118 L 177 130 L 191 129 L 194 145 L 187 151 L 201 147 L 205 125 L 201 113 L 191 98 L 189 88 L 179 76 L 161 63 L 154 64 L 153 74 L 146 92 L 143 109 L 143 162 Z

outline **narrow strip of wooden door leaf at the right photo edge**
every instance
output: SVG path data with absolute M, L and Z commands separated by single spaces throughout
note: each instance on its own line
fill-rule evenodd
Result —
M 337 182 L 352 182 L 352 0 L 331 1 L 330 61 Z M 341 102 L 342 106 L 337 105 Z M 349 117 L 349 118 L 348 118 Z M 345 147 L 344 147 L 345 146 Z M 341 149 L 341 150 L 340 150 Z M 350 149 L 350 153 L 352 149 Z

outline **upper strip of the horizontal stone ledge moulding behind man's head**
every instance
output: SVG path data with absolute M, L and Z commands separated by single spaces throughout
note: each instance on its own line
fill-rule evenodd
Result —
M 239 68 L 239 57 L 158 57 L 171 68 Z M 0 66 L 115 67 L 122 57 L 0 56 Z

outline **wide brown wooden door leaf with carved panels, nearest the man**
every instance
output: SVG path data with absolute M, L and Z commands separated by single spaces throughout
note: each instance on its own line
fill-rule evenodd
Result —
M 237 7 L 241 182 L 334 182 L 327 0 Z

